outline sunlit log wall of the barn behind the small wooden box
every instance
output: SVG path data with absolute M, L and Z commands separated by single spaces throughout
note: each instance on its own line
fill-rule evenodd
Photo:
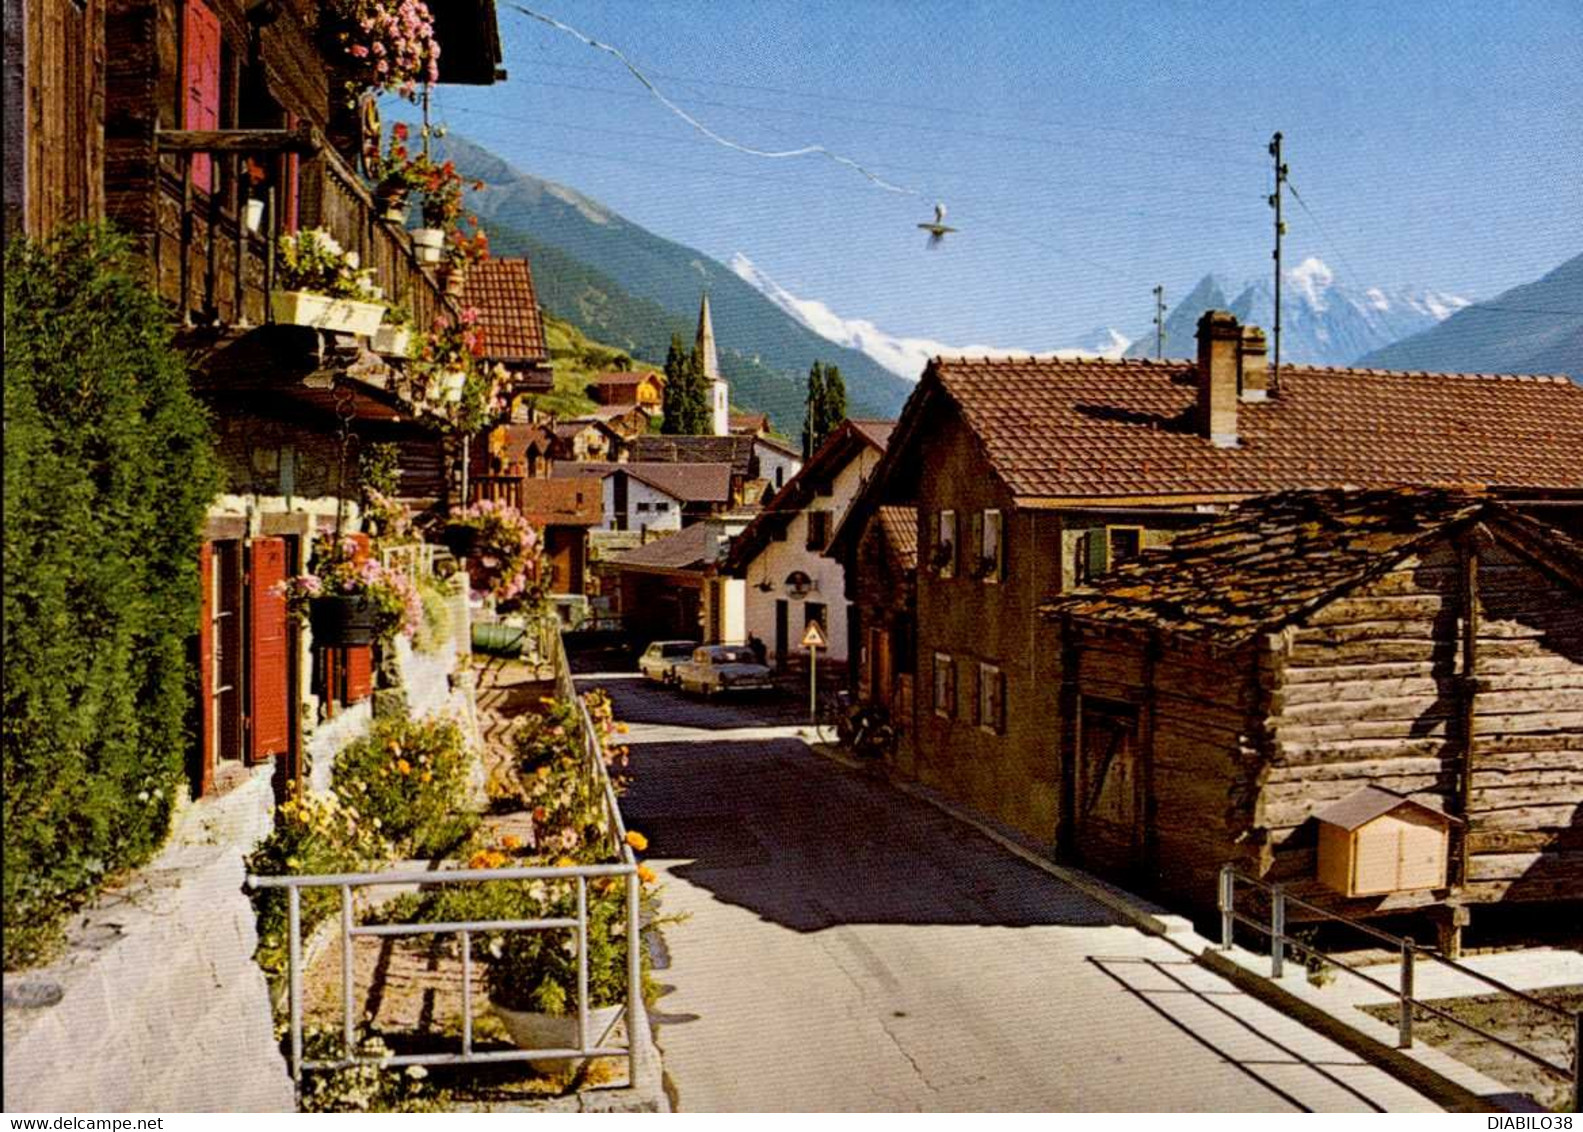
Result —
M 1488 532 L 1474 541 L 1472 684 L 1452 538 L 1287 630 L 1255 812 L 1273 879 L 1312 876 L 1304 823 L 1363 785 L 1460 814 L 1472 689 L 1466 899 L 1583 899 L 1583 598 Z

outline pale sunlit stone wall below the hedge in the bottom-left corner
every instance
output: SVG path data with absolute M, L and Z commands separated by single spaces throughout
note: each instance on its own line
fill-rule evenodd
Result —
M 6 1111 L 294 1108 L 242 891 L 271 773 L 188 806 L 165 850 L 78 917 L 63 958 L 5 977 Z

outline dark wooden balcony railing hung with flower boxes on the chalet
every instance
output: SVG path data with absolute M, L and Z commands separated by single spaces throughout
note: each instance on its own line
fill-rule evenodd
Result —
M 161 131 L 160 147 L 174 160 L 157 163 L 155 230 L 149 239 L 160 294 L 188 325 L 258 326 L 269 321 L 275 290 L 274 256 L 285 207 L 271 188 L 256 231 L 244 220 L 245 154 L 296 152 L 298 226 L 325 228 L 356 250 L 385 298 L 407 307 L 427 329 L 457 306 L 424 268 L 407 230 L 386 220 L 356 173 L 313 131 Z M 195 184 L 195 158 L 207 155 L 217 188 Z M 199 163 L 201 166 L 201 163 Z M 201 176 L 201 169 L 199 169 Z

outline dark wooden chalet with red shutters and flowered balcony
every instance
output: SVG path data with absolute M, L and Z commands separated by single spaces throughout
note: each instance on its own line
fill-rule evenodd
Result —
M 503 78 L 494 0 L 434 13 L 440 82 Z M 348 106 L 347 59 L 320 14 L 310 0 L 6 5 L 8 236 L 95 220 L 130 233 L 214 412 L 226 484 L 201 551 L 195 795 L 277 757 L 280 781 L 294 776 L 317 712 L 370 693 L 369 649 L 304 648 L 274 586 L 315 535 L 356 530 L 366 445 L 438 450 L 438 413 L 397 358 L 272 321 L 277 237 L 306 228 L 356 252 L 418 326 L 459 315 L 375 204 L 363 155 L 378 116 Z M 445 461 L 418 478 L 404 494 L 450 492 Z

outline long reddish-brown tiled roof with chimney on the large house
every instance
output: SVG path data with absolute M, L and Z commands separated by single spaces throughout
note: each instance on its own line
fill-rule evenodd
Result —
M 1282 366 L 1277 396 L 1236 407 L 1236 448 L 1195 427 L 1189 361 L 937 358 L 931 378 L 1019 499 L 1583 488 L 1583 388 L 1562 377 Z

